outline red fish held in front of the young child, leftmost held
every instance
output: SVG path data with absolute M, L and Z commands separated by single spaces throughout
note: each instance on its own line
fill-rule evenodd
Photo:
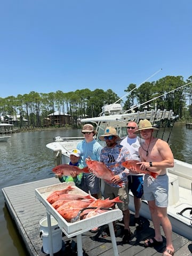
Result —
M 57 175 L 64 175 L 64 176 L 70 176 L 71 172 L 76 172 L 77 174 L 85 172 L 90 173 L 88 167 L 84 167 L 83 169 L 80 169 L 77 166 L 69 165 L 69 164 L 60 164 L 53 168 L 52 170 Z

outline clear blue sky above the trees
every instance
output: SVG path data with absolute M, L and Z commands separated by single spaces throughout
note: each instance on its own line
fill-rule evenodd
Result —
M 3 0 L 0 98 L 192 76 L 191 0 Z M 125 99 L 125 98 L 124 98 Z

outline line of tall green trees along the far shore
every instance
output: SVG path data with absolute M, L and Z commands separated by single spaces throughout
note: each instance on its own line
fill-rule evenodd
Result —
M 104 105 L 118 101 L 124 110 L 131 109 L 136 104 L 138 107 L 136 106 L 135 111 L 142 111 L 143 108 L 150 109 L 152 106 L 154 108 L 156 104 L 158 109 L 172 109 L 180 119 L 188 119 L 192 115 L 191 82 L 192 76 L 187 81 L 184 81 L 182 76 L 166 76 L 156 82 L 145 82 L 139 87 L 136 84 L 129 84 L 124 90 L 127 93 L 125 102 L 111 89 L 107 91 L 82 89 L 66 93 L 31 91 L 29 94 L 18 94 L 17 97 L 0 98 L 0 114 L 1 116 L 19 114 L 20 127 L 24 125 L 23 118 L 27 119 L 28 127 L 43 127 L 44 118 L 57 110 L 59 113 L 70 115 L 72 125 L 76 126 L 78 118 L 98 116 Z M 182 86 L 185 84 L 186 86 Z M 182 86 L 180 89 L 174 90 L 180 86 Z M 150 101 L 151 99 L 155 100 Z M 146 104 L 143 105 L 144 102 Z

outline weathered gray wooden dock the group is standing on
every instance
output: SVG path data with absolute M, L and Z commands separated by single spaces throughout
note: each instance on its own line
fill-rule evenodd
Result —
M 5 187 L 2 189 L 5 203 L 9 209 L 12 219 L 15 221 L 18 231 L 26 245 L 28 255 L 31 256 L 46 256 L 42 251 L 42 240 L 39 236 L 39 220 L 46 217 L 46 209 L 37 198 L 35 198 L 35 189 L 50 186 L 59 183 L 58 179 L 49 178 L 21 185 Z M 154 236 L 153 223 L 147 219 L 142 230 L 137 230 L 133 223 L 134 215 L 131 213 L 130 228 L 133 233 L 130 243 L 122 243 L 122 222 L 117 222 L 117 249 L 119 255 L 122 256 L 160 256 L 162 255 L 165 243 L 155 248 L 145 248 L 143 241 L 148 237 Z M 87 231 L 82 234 L 82 244 L 84 256 L 109 256 L 114 255 L 113 246 L 110 236 L 107 238 L 101 237 L 100 228 L 98 233 Z M 56 256 L 71 256 L 76 253 L 76 237 L 67 238 L 63 235 L 63 246 L 60 252 L 55 253 Z M 175 249 L 174 256 L 191 256 L 192 242 L 187 238 L 173 233 L 173 246 Z M 165 239 L 164 239 L 165 240 Z

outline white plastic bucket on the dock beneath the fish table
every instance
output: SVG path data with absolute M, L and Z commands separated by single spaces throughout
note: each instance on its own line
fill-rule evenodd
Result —
M 39 221 L 40 224 L 40 237 L 43 241 L 43 251 L 47 254 L 50 253 L 49 230 L 47 217 Z M 57 220 L 51 215 L 51 231 L 53 241 L 53 253 L 59 252 L 62 248 L 62 231 L 58 226 Z

